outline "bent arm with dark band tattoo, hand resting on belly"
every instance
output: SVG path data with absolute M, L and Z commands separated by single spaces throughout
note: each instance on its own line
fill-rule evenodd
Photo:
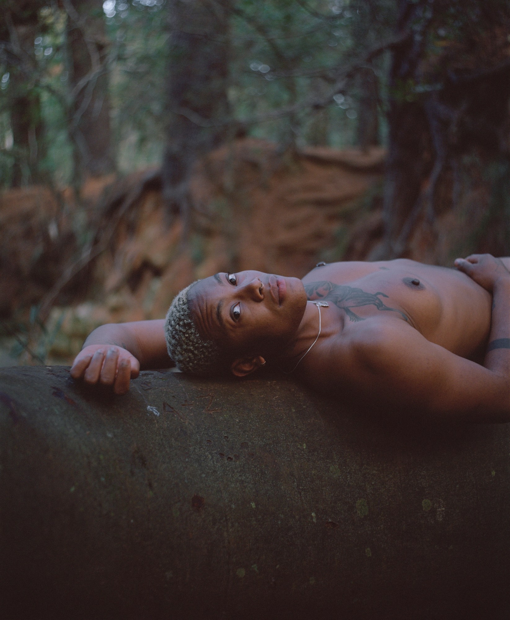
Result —
M 510 422 L 510 273 L 491 256 L 465 262 L 457 266 L 494 295 L 484 366 L 429 342 L 403 321 L 383 318 L 318 359 L 314 383 L 326 390 L 336 382 L 353 401 L 409 415 Z

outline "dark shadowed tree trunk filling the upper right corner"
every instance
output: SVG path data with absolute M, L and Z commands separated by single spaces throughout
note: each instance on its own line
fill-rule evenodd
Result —
M 506 0 L 400 0 L 396 30 L 409 36 L 392 51 L 385 242 L 371 259 L 405 255 L 419 223 L 434 242 L 437 196 L 455 203 L 466 156 L 480 177 L 509 162 L 509 27 Z

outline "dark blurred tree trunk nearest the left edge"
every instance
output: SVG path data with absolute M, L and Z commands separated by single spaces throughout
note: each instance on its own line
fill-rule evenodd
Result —
M 34 40 L 38 34 L 40 2 L 7 5 L 1 27 L 2 40 L 9 42 L 9 110 L 13 139 L 11 185 L 20 187 L 43 180 L 41 162 L 45 156 L 41 102 L 32 83 Z

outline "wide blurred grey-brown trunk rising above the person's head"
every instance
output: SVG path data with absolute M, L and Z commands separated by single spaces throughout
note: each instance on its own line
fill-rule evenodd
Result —
M 163 195 L 189 226 L 188 184 L 197 158 L 225 140 L 231 0 L 170 0 Z M 221 124 L 223 123 L 223 124 Z

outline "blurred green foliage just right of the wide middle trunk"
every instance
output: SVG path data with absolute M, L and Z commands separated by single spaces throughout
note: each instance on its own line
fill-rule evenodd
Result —
M 352 79 L 346 79 L 338 100 L 331 98 L 324 112 L 307 102 L 325 96 L 339 68 L 390 35 L 395 3 L 377 4 L 381 10 L 372 20 L 370 4 L 361 1 L 235 2 L 230 98 L 236 117 L 264 117 L 293 105 L 294 114 L 254 125 L 251 133 L 284 143 L 316 142 L 316 116 L 322 115 L 324 143 L 352 144 L 359 97 Z M 381 68 L 380 61 L 373 65 L 378 74 Z

